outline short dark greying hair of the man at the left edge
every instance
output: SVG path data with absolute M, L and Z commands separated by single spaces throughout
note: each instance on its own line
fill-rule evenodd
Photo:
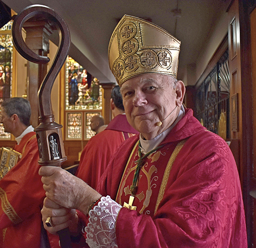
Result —
M 25 126 L 30 125 L 31 107 L 28 100 L 22 97 L 8 98 L 2 103 L 1 107 L 9 117 L 16 114 Z

